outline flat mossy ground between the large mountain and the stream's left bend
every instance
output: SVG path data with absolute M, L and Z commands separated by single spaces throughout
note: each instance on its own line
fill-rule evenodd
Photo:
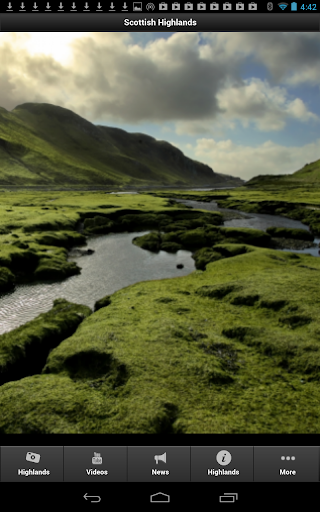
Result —
M 0 197 L 0 293 L 21 281 L 78 274 L 80 268 L 68 261 L 68 249 L 85 245 L 88 235 L 158 228 L 179 211 L 188 213 L 142 194 L 2 190 Z M 189 214 L 197 215 L 202 214 Z

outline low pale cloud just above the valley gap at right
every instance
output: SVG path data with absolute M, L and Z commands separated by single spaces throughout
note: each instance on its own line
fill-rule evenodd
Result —
M 191 154 L 189 145 L 189 154 Z M 260 174 L 290 174 L 320 157 L 320 139 L 301 147 L 286 147 L 272 141 L 252 147 L 237 145 L 230 139 L 198 139 L 193 153 L 215 172 L 248 180 Z

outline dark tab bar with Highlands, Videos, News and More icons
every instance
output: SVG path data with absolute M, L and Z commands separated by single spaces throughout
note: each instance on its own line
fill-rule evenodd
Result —
M 318 482 L 319 446 L 2 446 L 1 482 Z

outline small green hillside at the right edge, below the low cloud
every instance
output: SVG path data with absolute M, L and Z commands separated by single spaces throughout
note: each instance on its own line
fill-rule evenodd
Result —
M 265 176 L 255 176 L 247 181 L 246 186 L 266 186 L 266 185 L 320 185 L 320 159 L 310 164 L 306 164 L 302 169 L 292 174 L 278 174 Z

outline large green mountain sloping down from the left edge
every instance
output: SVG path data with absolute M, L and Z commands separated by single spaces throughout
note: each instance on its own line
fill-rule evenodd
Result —
M 66 108 L 0 107 L 0 185 L 241 185 L 168 142 L 94 125 Z

